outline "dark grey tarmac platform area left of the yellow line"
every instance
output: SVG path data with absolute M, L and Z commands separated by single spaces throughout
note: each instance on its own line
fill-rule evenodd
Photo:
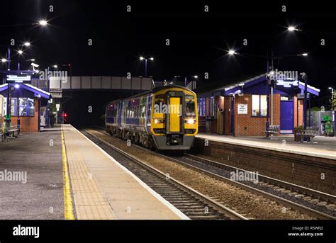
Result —
M 1 220 L 64 219 L 60 130 L 0 142 L 0 171 L 26 173 L 26 183 L 0 179 Z

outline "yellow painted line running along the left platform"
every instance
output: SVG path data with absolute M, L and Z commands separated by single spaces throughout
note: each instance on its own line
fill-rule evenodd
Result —
M 67 168 L 67 152 L 65 149 L 65 136 L 63 134 L 62 125 L 61 125 L 61 139 L 62 139 L 62 164 L 63 164 L 62 167 L 63 167 L 63 194 L 65 204 L 65 220 L 74 220 L 69 171 Z

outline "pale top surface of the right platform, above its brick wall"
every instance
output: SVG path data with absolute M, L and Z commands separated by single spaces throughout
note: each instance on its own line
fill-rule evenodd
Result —
M 196 137 L 216 142 L 226 142 L 262 149 L 273 149 L 281 152 L 336 159 L 336 137 L 315 137 L 314 141 L 318 143 L 296 142 L 294 141 L 293 135 L 276 136 L 276 140 L 269 140 L 265 137 L 232 137 L 207 133 L 198 133 Z M 286 141 L 285 144 L 283 140 Z

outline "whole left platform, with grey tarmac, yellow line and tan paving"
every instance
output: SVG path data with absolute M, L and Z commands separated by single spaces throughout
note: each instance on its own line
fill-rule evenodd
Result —
M 72 125 L 23 133 L 0 154 L 0 219 L 188 219 Z

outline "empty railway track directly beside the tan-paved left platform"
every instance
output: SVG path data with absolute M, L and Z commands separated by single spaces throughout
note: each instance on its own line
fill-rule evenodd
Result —
M 170 178 L 169 175 L 123 152 L 91 132 L 87 130 L 81 132 L 191 220 L 247 220 L 247 217 Z

